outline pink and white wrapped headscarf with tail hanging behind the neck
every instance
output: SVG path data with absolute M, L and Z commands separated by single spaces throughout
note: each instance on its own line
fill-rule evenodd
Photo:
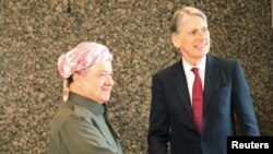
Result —
M 81 71 L 97 62 L 111 61 L 112 55 L 109 49 L 100 44 L 83 42 L 76 45 L 58 59 L 58 70 L 63 79 L 63 100 L 69 96 L 68 79 L 76 71 Z

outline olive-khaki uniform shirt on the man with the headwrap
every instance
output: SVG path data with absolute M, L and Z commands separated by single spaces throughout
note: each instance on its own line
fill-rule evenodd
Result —
M 122 154 L 106 107 L 70 92 L 50 123 L 48 154 Z

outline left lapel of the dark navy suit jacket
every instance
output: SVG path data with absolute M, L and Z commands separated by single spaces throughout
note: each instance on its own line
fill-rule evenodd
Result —
M 177 95 L 180 98 L 188 114 L 192 117 L 191 100 L 190 100 L 187 79 L 182 67 L 182 61 L 176 63 L 174 68 L 173 78 L 174 78 L 173 84 L 176 87 Z

